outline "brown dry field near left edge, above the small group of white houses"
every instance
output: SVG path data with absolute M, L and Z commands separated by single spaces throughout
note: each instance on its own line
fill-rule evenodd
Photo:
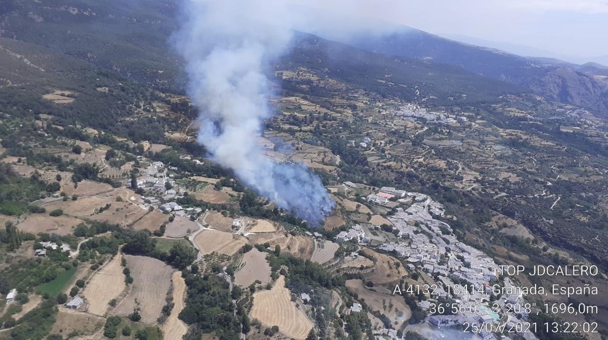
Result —
M 24 215 L 19 220 L 17 227 L 20 231 L 30 232 L 34 235 L 39 232 L 69 235 L 74 232 L 74 227 L 80 223 L 83 223 L 83 221 L 65 215 L 50 217 L 47 213 L 34 213 L 32 215 Z

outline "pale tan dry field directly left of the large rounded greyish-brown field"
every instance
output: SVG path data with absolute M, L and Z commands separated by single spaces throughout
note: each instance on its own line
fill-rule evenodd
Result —
M 121 260 L 122 254 L 114 256 L 110 262 L 93 274 L 91 281 L 87 283 L 82 295 L 89 302 L 89 313 L 103 316 L 108 310 L 108 302 L 116 299 L 125 290 Z

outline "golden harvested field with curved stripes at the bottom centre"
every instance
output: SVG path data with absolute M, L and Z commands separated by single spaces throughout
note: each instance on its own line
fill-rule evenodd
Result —
M 268 327 L 277 325 L 281 333 L 294 339 L 306 339 L 313 328 L 313 323 L 306 313 L 295 307 L 295 302 L 291 301 L 291 292 L 285 287 L 283 276 L 278 277 L 272 290 L 254 294 L 254 306 L 249 317 L 258 319 Z

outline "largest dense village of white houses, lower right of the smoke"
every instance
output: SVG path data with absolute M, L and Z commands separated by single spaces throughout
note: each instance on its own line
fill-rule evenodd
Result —
M 436 282 L 438 289 L 429 299 L 419 302 L 421 308 L 428 310 L 430 304 L 437 302 L 441 297 L 451 297 L 458 303 L 471 302 L 483 306 L 479 311 L 471 314 L 431 316 L 429 324 L 441 328 L 462 325 L 463 322 L 483 324 L 499 321 L 499 315 L 491 313 L 489 308 L 490 283 L 497 279 L 499 267 L 482 251 L 458 241 L 452 235 L 449 224 L 438 220 L 444 215 L 442 204 L 427 195 L 405 192 L 392 187 L 383 187 L 370 196 L 368 201 L 371 202 L 377 201 L 380 197 L 410 204 L 407 209 L 398 207 L 393 215 L 387 217 L 393 224 L 393 234 L 396 235 L 397 240 L 381 243 L 378 249 L 402 258 L 407 262 L 409 269 L 418 269 L 432 274 L 429 277 L 438 277 Z M 366 234 L 365 228 L 357 224 L 348 231 L 340 232 L 336 241 L 368 243 L 370 237 Z M 477 289 L 469 292 L 463 287 L 465 284 L 473 285 Z M 504 284 L 513 285 L 508 279 Z M 502 296 L 500 299 L 505 302 L 520 302 L 522 296 Z M 510 317 L 526 319 L 527 315 Z M 484 340 L 496 339 L 492 333 L 478 336 Z

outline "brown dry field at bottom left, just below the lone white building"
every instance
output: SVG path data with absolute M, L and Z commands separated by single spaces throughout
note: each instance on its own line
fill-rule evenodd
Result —
M 91 335 L 103 327 L 105 319 L 83 311 L 59 308 L 57 321 L 53 325 L 51 334 L 68 335 L 77 331 L 79 335 Z

